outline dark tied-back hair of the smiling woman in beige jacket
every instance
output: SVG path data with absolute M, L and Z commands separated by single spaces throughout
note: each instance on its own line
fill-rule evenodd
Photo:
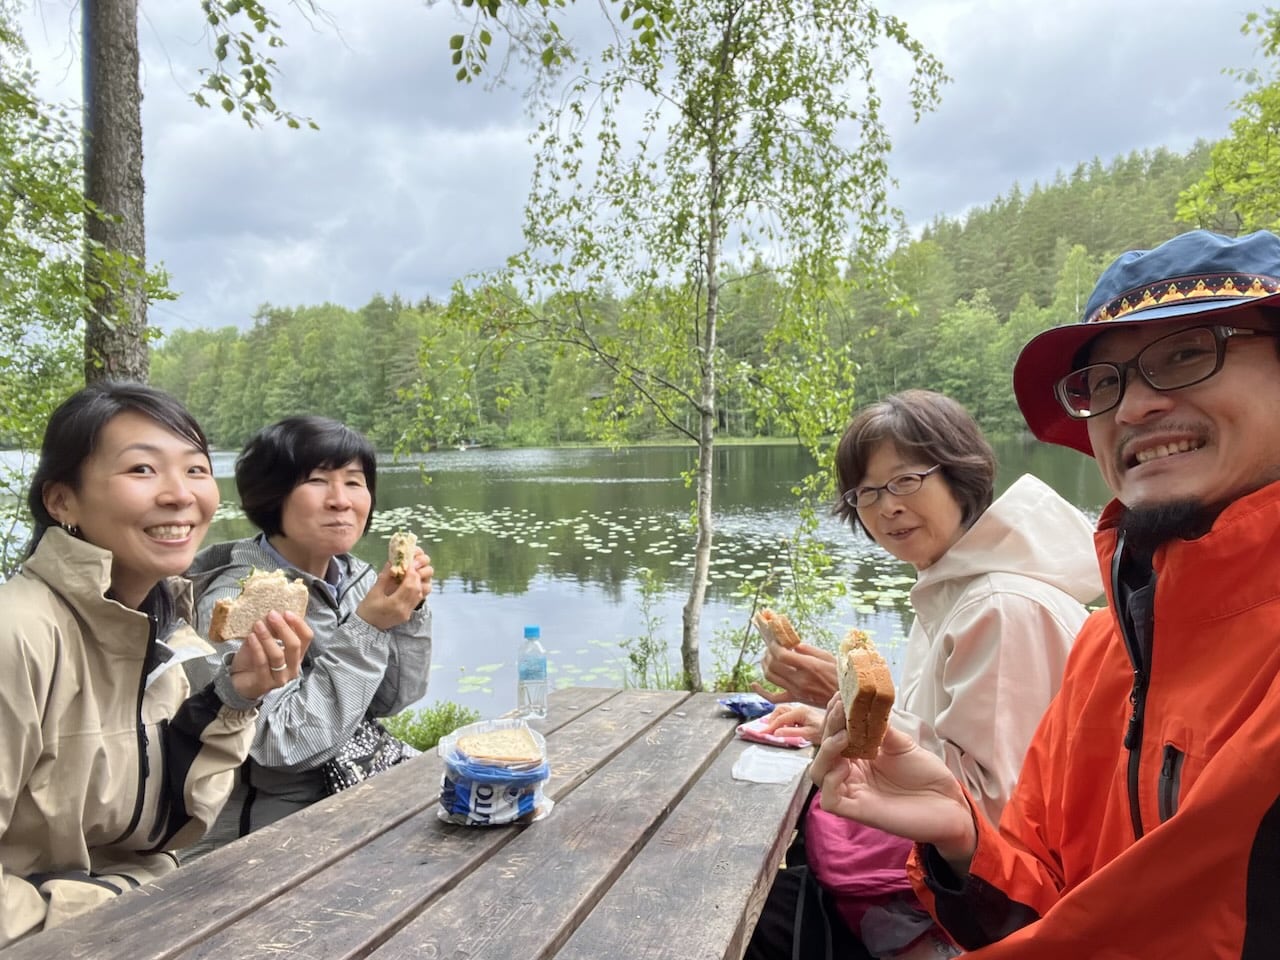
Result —
M 28 557 L 36 552 L 45 531 L 58 526 L 45 507 L 46 488 L 63 483 L 79 490 L 81 467 L 97 449 L 102 429 L 120 413 L 150 417 L 209 456 L 209 440 L 196 417 L 164 390 L 132 380 L 100 380 L 77 390 L 58 406 L 45 426 L 40 462 L 27 492 L 27 507 L 35 520 Z

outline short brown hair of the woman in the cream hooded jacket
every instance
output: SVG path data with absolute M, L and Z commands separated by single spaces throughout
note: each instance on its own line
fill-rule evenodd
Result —
M 965 527 L 991 506 L 996 453 L 969 411 L 933 390 L 902 390 L 860 410 L 836 447 L 837 499 L 832 512 L 854 530 L 870 536 L 845 494 L 861 484 L 867 462 L 886 442 L 922 463 L 942 467 Z

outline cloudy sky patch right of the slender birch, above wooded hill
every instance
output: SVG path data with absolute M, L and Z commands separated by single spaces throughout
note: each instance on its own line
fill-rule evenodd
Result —
M 934 114 L 895 129 L 897 202 L 915 223 L 1094 156 L 1224 136 L 1239 90 L 1222 68 L 1252 50 L 1226 3 L 992 0 L 960 5 L 969 15 L 941 29 L 931 28 L 940 8 L 916 6 L 908 20 L 933 35 L 954 82 Z

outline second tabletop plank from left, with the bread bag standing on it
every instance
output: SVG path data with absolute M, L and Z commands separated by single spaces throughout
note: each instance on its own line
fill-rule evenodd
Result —
M 545 792 L 559 804 L 687 696 L 684 691 L 627 690 L 594 700 L 594 708 L 576 714 L 566 708 L 563 713 L 571 716 L 564 722 L 558 704 L 549 717 L 554 730 L 547 741 L 552 778 Z M 531 828 L 443 823 L 436 815 L 439 758 L 433 754 L 422 768 L 415 794 L 428 795 L 429 805 L 237 923 L 202 937 L 180 954 L 182 960 L 248 960 L 276 952 L 288 954 L 291 960 L 362 956 L 424 904 L 499 856 L 495 851 L 522 831 L 541 829 L 558 815 L 557 809 Z

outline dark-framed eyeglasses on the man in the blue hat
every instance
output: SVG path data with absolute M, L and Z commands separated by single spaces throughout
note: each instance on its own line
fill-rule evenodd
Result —
M 1053 392 L 1069 416 L 1088 420 L 1119 406 L 1130 370 L 1137 370 L 1153 390 L 1180 390 L 1203 383 L 1222 369 L 1226 342 L 1233 337 L 1275 337 L 1275 333 L 1238 326 L 1192 326 L 1152 340 L 1123 364 L 1089 364 L 1073 370 L 1055 384 Z

